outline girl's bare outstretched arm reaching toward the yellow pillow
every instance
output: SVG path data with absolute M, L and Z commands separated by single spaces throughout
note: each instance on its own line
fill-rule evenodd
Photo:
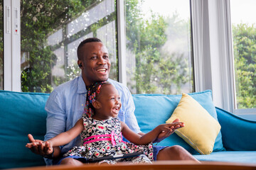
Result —
M 183 126 L 184 124 L 181 122 L 166 123 L 158 125 L 156 128 L 154 128 L 154 130 L 151 130 L 144 135 L 138 135 L 130 130 L 129 127 L 121 121 L 122 135 L 124 135 L 127 140 L 135 145 L 146 145 L 149 142 L 154 142 L 160 133 L 174 132 L 174 130 L 182 128 Z

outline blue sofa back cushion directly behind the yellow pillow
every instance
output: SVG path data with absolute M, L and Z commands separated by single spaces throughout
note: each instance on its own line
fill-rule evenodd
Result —
M 210 90 L 188 94 L 193 97 L 210 115 L 218 120 L 215 106 L 212 101 L 212 93 Z M 178 106 L 181 100 L 181 95 L 164 95 L 164 94 L 134 94 L 135 116 L 138 120 L 139 127 L 142 132 L 149 132 L 157 125 L 165 123 L 168 120 L 174 109 Z M 181 145 L 191 154 L 198 153 L 195 149 L 189 146 L 185 141 L 178 137 L 175 133 L 165 140 L 159 142 L 161 146 Z M 215 139 L 213 152 L 224 150 L 221 132 Z

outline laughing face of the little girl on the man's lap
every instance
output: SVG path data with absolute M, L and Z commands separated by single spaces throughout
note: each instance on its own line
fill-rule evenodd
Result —
M 121 99 L 117 89 L 112 84 L 103 84 L 97 100 L 93 103 L 97 120 L 116 118 L 121 108 Z

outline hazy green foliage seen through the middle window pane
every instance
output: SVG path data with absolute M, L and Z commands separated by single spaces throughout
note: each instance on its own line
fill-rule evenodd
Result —
M 190 35 L 190 21 L 179 20 L 176 13 L 164 17 L 151 12 L 151 17 L 145 19 L 141 12 L 142 4 L 140 0 L 129 0 L 126 4 L 127 49 L 136 57 L 133 78 L 136 84 L 128 82 L 128 86 L 136 89 L 137 94 L 178 94 L 183 92 L 181 86 L 189 84 L 189 92 L 193 92 L 193 74 L 192 68 L 188 67 L 188 57 L 183 53 L 161 50 L 168 39 L 175 45 L 175 40 L 184 40 L 179 35 Z

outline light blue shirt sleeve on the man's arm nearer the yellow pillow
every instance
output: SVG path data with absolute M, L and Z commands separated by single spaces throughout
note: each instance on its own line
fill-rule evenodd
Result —
M 132 131 L 136 133 L 142 132 L 139 128 L 137 119 L 134 115 L 135 106 L 134 106 L 132 94 L 126 86 L 124 86 L 123 91 L 124 91 L 124 96 L 126 98 L 125 109 L 124 109 L 124 114 L 125 114 L 124 123 L 126 123 Z

